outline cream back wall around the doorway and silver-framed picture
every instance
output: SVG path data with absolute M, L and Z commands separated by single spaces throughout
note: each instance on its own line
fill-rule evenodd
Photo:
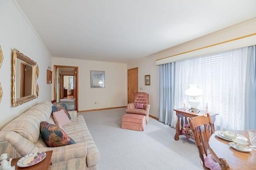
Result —
M 127 105 L 126 64 L 52 57 L 53 65 L 78 66 L 78 111 Z M 91 70 L 105 71 L 105 88 L 90 88 Z

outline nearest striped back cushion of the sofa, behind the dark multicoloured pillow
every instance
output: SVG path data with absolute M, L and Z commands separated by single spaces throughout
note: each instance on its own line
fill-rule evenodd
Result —
M 2 131 L 11 130 L 35 143 L 40 134 L 40 122 L 47 121 L 52 113 L 50 101 L 38 103 L 8 123 Z

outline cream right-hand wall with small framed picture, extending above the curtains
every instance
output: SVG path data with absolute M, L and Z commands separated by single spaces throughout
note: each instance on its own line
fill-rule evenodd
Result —
M 185 51 L 190 51 L 192 49 L 197 49 L 200 47 L 205 47 L 207 45 L 212 45 L 214 43 L 224 42 L 241 36 L 246 36 L 248 34 L 253 34 L 256 32 L 256 19 L 250 20 L 248 22 L 209 34 L 202 38 L 192 40 L 190 42 L 177 45 L 175 47 L 160 51 L 158 53 L 152 54 L 140 61 L 127 64 L 127 69 L 138 67 L 139 76 L 139 91 L 144 91 L 150 94 L 150 115 L 158 117 L 159 108 L 159 66 L 156 65 L 156 59 L 161 59 L 168 57 L 170 55 L 176 55 Z M 256 44 L 256 41 L 255 41 Z M 231 49 L 232 47 L 230 47 Z M 228 48 L 226 49 L 228 50 Z M 144 85 L 144 75 L 150 75 L 151 82 L 150 86 Z M 143 90 L 140 90 L 140 87 Z

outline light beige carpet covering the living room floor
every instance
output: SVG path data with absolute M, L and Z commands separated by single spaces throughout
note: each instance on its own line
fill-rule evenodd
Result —
M 143 132 L 121 128 L 125 108 L 83 115 L 100 151 L 100 170 L 202 170 L 193 140 L 174 140 L 175 128 L 150 118 Z

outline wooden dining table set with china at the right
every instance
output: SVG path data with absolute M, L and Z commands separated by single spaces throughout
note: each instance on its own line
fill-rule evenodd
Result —
M 232 130 L 232 132 L 245 136 L 250 145 L 247 131 Z M 218 158 L 225 158 L 232 170 L 256 170 L 256 150 L 252 149 L 251 152 L 241 152 L 232 148 L 229 142 L 214 133 L 209 139 L 210 150 Z

